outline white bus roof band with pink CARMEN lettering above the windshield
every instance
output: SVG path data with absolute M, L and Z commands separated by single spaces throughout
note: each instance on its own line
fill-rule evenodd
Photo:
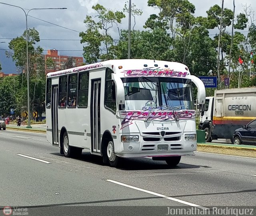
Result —
M 64 74 L 73 74 L 107 67 L 112 69 L 114 73 L 120 74 L 120 77 L 162 76 L 185 78 L 190 75 L 188 67 L 179 62 L 148 59 L 122 59 L 107 60 L 104 62 L 51 72 L 47 74 L 47 77 L 56 77 Z

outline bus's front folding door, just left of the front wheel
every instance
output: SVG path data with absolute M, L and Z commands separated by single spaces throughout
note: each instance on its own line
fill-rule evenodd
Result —
M 91 89 L 92 152 L 100 153 L 100 79 L 92 80 Z

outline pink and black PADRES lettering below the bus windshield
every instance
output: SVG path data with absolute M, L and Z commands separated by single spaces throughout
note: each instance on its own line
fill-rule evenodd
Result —
M 186 110 L 186 111 L 168 111 L 168 112 L 143 112 L 143 111 L 122 111 L 120 112 L 121 116 L 124 116 L 124 119 L 121 122 L 121 129 L 129 126 L 130 124 L 133 124 L 133 120 L 171 120 L 175 119 L 175 116 L 179 119 L 186 119 L 186 118 L 193 118 L 196 116 L 196 113 L 194 110 Z M 148 116 L 150 115 L 150 116 Z

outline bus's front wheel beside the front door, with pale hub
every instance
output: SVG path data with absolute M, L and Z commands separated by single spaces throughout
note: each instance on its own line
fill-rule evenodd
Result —
M 118 167 L 120 165 L 121 158 L 114 153 L 114 142 L 108 141 L 108 144 L 104 146 L 103 162 L 109 164 L 111 167 Z

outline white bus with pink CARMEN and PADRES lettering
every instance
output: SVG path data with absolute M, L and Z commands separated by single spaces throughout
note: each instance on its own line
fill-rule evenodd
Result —
M 139 157 L 176 166 L 196 150 L 192 82 L 204 104 L 203 82 L 178 62 L 108 60 L 49 73 L 47 140 L 66 157 L 88 149 L 110 166 Z

